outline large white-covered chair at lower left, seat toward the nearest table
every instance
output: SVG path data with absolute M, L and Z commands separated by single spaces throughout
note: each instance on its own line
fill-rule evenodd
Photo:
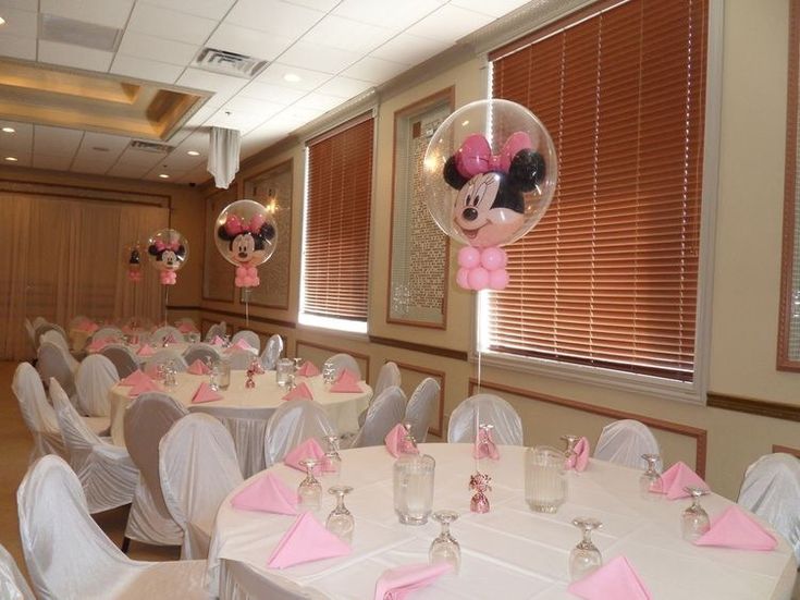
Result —
M 58 456 L 45 456 L 16 491 L 20 537 L 40 599 L 207 600 L 206 561 L 132 561 L 86 510 L 81 482 Z

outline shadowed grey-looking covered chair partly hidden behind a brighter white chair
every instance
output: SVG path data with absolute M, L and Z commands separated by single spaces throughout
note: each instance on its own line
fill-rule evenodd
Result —
M 139 469 L 123 551 L 130 540 L 155 546 L 181 546 L 183 529 L 170 515 L 161 492 L 158 444 L 175 421 L 188 413 L 176 400 L 161 392 L 147 392 L 125 409 L 123 428 L 131 458 Z

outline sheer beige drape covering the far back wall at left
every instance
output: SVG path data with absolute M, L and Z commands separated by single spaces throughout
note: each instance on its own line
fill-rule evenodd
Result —
M 0 207 L 0 358 L 26 357 L 26 316 L 158 318 L 158 278 L 130 282 L 123 247 L 167 226 L 165 208 L 8 192 Z

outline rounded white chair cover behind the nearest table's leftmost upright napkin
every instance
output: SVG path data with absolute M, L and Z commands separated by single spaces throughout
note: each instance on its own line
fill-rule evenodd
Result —
M 336 436 L 325 409 L 312 400 L 284 402 L 267 421 L 263 456 L 267 466 L 282 461 L 286 453 L 308 438 L 325 448 L 324 438 Z

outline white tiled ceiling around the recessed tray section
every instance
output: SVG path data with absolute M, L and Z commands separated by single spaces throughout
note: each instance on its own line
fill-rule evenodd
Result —
M 175 183 L 200 183 L 208 127 L 242 131 L 242 158 L 399 75 L 527 0 L 0 0 L 0 57 L 212 93 L 168 143 L 4 121 L 0 158 L 17 164 Z M 124 29 L 116 52 L 37 39 L 37 13 Z M 270 61 L 255 79 L 190 66 L 204 47 Z M 293 74 L 299 81 L 290 82 Z M 99 149 L 98 149 L 99 148 Z M 193 157 L 188 150 L 199 151 Z M 169 174 L 169 180 L 159 174 Z

